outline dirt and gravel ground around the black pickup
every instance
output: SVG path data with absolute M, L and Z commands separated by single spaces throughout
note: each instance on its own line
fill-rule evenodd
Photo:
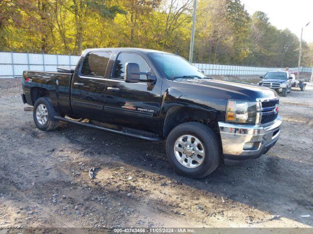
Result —
M 20 93 L 20 79 L 0 79 L 0 228 L 313 226 L 312 84 L 280 99 L 266 155 L 203 179 L 177 175 L 163 142 L 69 123 L 42 132 Z

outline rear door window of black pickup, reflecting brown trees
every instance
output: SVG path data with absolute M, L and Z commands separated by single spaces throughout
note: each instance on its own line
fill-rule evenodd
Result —
M 110 51 L 89 52 L 83 61 L 80 74 L 88 77 L 104 78 L 110 57 Z

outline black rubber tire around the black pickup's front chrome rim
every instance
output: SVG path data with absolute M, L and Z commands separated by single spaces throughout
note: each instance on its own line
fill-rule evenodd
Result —
M 180 164 L 175 156 L 176 140 L 183 135 L 197 137 L 204 148 L 204 159 L 196 168 L 188 168 Z M 217 135 L 208 126 L 198 122 L 187 122 L 176 126 L 166 139 L 166 155 L 172 167 L 179 174 L 192 178 L 201 178 L 211 174 L 220 163 L 220 147 Z

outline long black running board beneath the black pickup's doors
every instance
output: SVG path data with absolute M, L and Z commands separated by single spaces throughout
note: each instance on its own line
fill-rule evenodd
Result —
M 118 130 L 114 130 L 114 129 L 110 129 L 110 128 L 104 128 L 104 127 L 100 127 L 100 126 L 97 126 L 97 125 L 94 125 L 94 124 L 82 123 L 82 122 L 78 122 L 78 121 L 71 120 L 71 119 L 64 118 L 64 117 L 55 116 L 54 118 L 58 119 L 58 120 L 61 120 L 61 121 L 69 122 L 69 123 L 74 123 L 74 124 L 78 124 L 78 125 L 82 125 L 82 126 L 86 126 L 86 127 L 90 127 L 90 128 L 104 130 L 104 131 L 111 132 L 111 133 L 117 133 L 117 134 L 124 135 L 124 136 L 136 137 L 136 138 L 143 139 L 143 140 L 150 140 L 150 141 L 159 141 L 159 140 L 161 140 L 160 137 L 145 137 L 145 136 L 134 134 L 134 133 L 127 133 L 127 132 L 124 132 L 123 130 L 122 131 L 118 131 Z M 125 128 L 125 130 L 127 130 L 127 128 Z

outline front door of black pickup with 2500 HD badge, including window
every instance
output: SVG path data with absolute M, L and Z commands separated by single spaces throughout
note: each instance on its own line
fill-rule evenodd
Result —
M 150 85 L 147 82 L 126 83 L 124 74 L 127 62 L 137 63 L 141 72 L 153 73 L 139 54 L 120 52 L 111 78 L 107 79 L 104 113 L 114 124 L 157 133 L 162 80 L 156 78 L 156 82 Z M 147 79 L 147 76 L 140 75 L 140 79 Z

